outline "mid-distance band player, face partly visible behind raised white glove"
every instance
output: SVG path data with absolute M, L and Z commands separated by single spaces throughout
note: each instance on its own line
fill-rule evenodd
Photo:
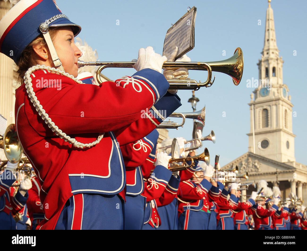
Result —
M 209 198 L 216 200 L 214 197 L 219 197 L 216 182 L 214 182 L 216 186 L 210 183 L 215 169 L 211 165 L 206 165 L 204 169 L 201 163 L 198 164 L 190 181 L 180 182 L 178 230 L 207 230 L 210 215 Z

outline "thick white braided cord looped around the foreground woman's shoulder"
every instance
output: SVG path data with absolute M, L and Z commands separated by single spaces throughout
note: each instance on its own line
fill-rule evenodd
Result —
M 104 133 L 100 133 L 97 140 L 95 140 L 94 142 L 92 142 L 90 144 L 83 144 L 81 142 L 78 142 L 75 138 L 71 138 L 71 137 L 67 136 L 66 133 L 63 133 L 62 130 L 60 130 L 54 124 L 54 122 L 51 121 L 51 118 L 49 118 L 48 114 L 45 112 L 42 105 L 37 100 L 37 97 L 35 96 L 35 92 L 33 92 L 32 82 L 31 82 L 32 78 L 31 78 L 30 74 L 33 73 L 34 71 L 37 71 L 37 70 L 48 70 L 49 73 L 56 73 L 56 74 L 59 74 L 59 75 L 65 76 L 65 77 L 69 77 L 73 81 L 76 81 L 79 84 L 83 84 L 83 83 L 82 83 L 82 81 L 78 80 L 77 78 L 70 75 L 69 73 L 66 73 L 66 72 L 64 72 L 60 69 L 56 69 L 54 67 L 51 68 L 50 66 L 36 65 L 36 66 L 30 67 L 26 71 L 25 76 L 23 78 L 25 80 L 25 88 L 27 89 L 27 93 L 29 94 L 29 98 L 30 98 L 31 102 L 33 103 L 33 106 L 35 107 L 38 114 L 45 121 L 45 123 L 52 130 L 52 132 L 54 132 L 56 134 L 56 136 L 59 136 L 61 139 L 64 139 L 64 141 L 68 142 L 69 144 L 73 144 L 74 147 L 78 147 L 78 148 L 88 147 L 89 148 L 89 147 L 94 146 L 95 144 L 98 144 L 100 142 L 100 140 L 103 138 Z

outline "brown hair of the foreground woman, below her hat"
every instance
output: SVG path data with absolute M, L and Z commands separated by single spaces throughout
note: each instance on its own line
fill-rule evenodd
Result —
M 51 40 L 56 36 L 58 28 L 50 28 L 49 34 L 51 37 Z M 37 62 L 33 59 L 33 53 L 35 51 L 33 50 L 33 47 L 38 44 L 46 44 L 46 41 L 43 37 L 43 35 L 38 36 L 35 38 L 25 49 L 21 52 L 21 56 L 19 58 L 19 61 L 17 62 L 17 69 L 15 69 L 16 79 L 17 79 L 17 85 L 15 88 L 17 89 L 22 83 L 23 83 L 23 77 L 25 76 L 25 72 L 32 66 L 37 65 Z

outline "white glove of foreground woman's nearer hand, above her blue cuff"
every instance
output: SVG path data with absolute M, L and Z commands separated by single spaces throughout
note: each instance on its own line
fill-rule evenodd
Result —
M 154 52 L 153 47 L 148 46 L 146 49 L 141 48 L 138 51 L 138 60 L 134 64 L 133 68 L 137 71 L 142 69 L 153 69 L 159 73 L 162 73 L 162 65 L 166 62 L 167 58 Z M 134 60 L 132 60 L 134 62 Z

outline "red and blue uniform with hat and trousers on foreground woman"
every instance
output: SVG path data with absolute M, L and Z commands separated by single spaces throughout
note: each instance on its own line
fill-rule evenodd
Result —
M 41 35 L 37 28 L 43 22 L 47 22 L 49 27 L 69 25 L 74 36 L 80 32 L 80 26 L 69 21 L 53 1 L 38 0 L 32 4 L 21 0 L 1 21 L 2 29 L 6 30 L 0 33 L 1 52 L 13 57 L 17 63 L 23 49 Z M 7 29 L 4 24 L 13 25 Z M 26 39 L 15 41 L 15 36 Z M 13 56 L 11 49 L 14 50 Z M 132 77 L 118 79 L 117 84 L 104 82 L 103 88 L 102 85 L 78 84 L 70 77 L 47 70 L 36 70 L 30 77 L 27 78 L 33 83 L 33 91 L 52 118 L 53 126 L 58 126 L 77 142 L 93 142 L 100 133 L 106 132 L 95 147 L 75 148 L 57 137 L 51 127 L 41 120 L 24 84 L 16 90 L 18 137 L 39 178 L 42 191 L 40 199 L 45 219 L 38 228 L 122 229 L 126 176 L 118 142 L 120 145 L 134 142 L 162 122 L 164 118 L 155 106 L 167 92 L 169 83 L 157 70 L 148 68 L 139 70 Z M 54 79 L 61 83 L 60 90 L 43 87 L 43 83 L 48 84 Z M 41 82 L 41 85 L 37 84 Z M 138 102 L 131 106 L 134 99 Z M 172 107 L 181 105 L 177 98 L 174 102 L 176 104 Z M 153 110 L 158 118 L 150 112 Z M 141 111 L 145 111 L 144 118 Z M 47 121 L 48 117 L 43 117 Z M 27 134 L 22 133 L 25 131 Z M 76 141 L 72 141 L 75 146 L 78 145 Z M 99 161 L 93 156 L 99 156 Z M 95 204 L 101 207 L 93 208 Z M 97 218 L 104 220 L 97 221 Z

